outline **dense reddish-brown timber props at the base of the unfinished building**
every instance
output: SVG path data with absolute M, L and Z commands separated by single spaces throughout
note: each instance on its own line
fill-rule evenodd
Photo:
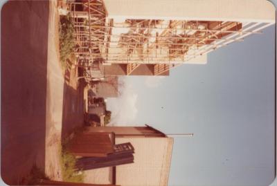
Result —
M 98 0 L 69 1 L 69 10 L 75 28 L 77 61 L 75 66 L 84 69 L 84 79 L 87 82 L 93 78 L 102 78 L 102 57 L 95 57 L 93 53 L 100 53 L 99 45 L 95 41 L 104 41 L 106 10 L 104 3 Z

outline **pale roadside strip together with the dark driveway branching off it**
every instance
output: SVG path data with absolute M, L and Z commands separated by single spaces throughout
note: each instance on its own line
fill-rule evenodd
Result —
M 62 180 L 59 154 L 62 140 L 84 124 L 84 84 L 77 82 L 77 68 L 62 72 L 58 24 L 57 1 L 50 1 L 45 172 L 52 180 Z

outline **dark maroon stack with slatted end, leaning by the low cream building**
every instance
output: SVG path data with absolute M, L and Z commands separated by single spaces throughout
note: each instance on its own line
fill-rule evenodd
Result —
M 76 169 L 88 170 L 102 167 L 114 167 L 134 162 L 134 147 L 130 142 L 114 145 L 114 153 L 107 157 L 86 157 L 79 158 L 76 162 Z

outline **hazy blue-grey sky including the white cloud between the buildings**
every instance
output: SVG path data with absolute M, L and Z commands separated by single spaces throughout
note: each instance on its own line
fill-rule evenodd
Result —
M 123 77 L 107 100 L 114 125 L 150 124 L 175 138 L 169 185 L 274 180 L 274 26 L 184 64 L 168 77 Z

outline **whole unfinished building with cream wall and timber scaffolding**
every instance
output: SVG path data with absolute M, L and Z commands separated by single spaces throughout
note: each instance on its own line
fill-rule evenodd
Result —
M 68 7 L 76 66 L 87 80 L 206 64 L 211 51 L 275 24 L 274 6 L 261 0 L 76 0 Z

